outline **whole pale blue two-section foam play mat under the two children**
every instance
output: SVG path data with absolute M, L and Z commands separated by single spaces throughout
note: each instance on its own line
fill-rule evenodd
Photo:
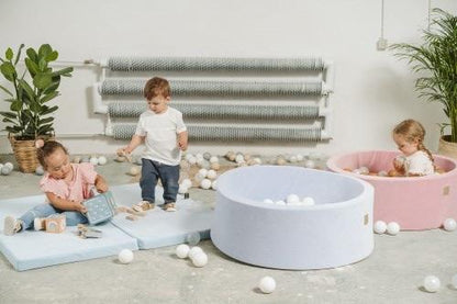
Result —
M 137 183 L 115 185 L 110 190 L 118 205 L 131 206 L 141 200 Z M 157 198 L 161 193 L 161 188 L 157 187 Z M 0 200 L 0 228 L 3 228 L 7 215 L 19 217 L 44 200 L 44 195 Z M 163 200 L 157 199 L 157 203 L 161 204 Z M 116 256 L 125 248 L 136 250 L 177 245 L 194 232 L 199 232 L 202 239 L 209 237 L 211 207 L 182 198 L 178 199 L 177 207 L 178 212 L 171 213 L 156 207 L 136 221 L 126 219 L 126 214 L 120 213 L 111 223 L 94 226 L 102 230 L 101 238 L 82 239 L 77 236 L 76 227 L 67 227 L 62 234 L 26 230 L 4 236 L 1 232 L 0 251 L 15 270 L 22 271 Z

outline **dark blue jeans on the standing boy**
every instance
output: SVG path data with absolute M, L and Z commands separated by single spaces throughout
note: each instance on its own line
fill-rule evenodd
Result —
M 179 165 L 169 166 L 145 158 L 142 158 L 142 165 L 140 187 L 142 188 L 143 201 L 155 202 L 156 184 L 157 180 L 160 179 L 164 185 L 165 203 L 176 202 L 179 189 Z

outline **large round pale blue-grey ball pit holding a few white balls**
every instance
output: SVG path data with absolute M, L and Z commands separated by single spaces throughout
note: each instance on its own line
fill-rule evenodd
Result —
M 294 193 L 315 205 L 264 203 Z M 218 179 L 211 239 L 225 255 L 277 269 L 349 264 L 374 249 L 374 188 L 352 177 L 289 166 L 234 169 Z

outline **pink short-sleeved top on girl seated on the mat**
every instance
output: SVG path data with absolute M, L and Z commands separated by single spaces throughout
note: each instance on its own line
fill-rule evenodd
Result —
M 89 162 L 71 164 L 74 170 L 73 180 L 67 183 L 63 179 L 54 179 L 46 172 L 40 181 L 43 192 L 52 192 L 57 196 L 69 201 L 83 201 L 92 196 L 91 187 L 96 182 L 97 172 Z

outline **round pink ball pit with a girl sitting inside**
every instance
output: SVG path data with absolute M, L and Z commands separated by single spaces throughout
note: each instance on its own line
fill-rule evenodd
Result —
M 327 168 L 360 178 L 375 187 L 374 221 L 399 223 L 402 230 L 438 228 L 457 218 L 457 162 L 434 155 L 435 165 L 446 172 L 425 177 L 379 177 L 357 174 L 345 169 L 367 167 L 370 172 L 389 171 L 398 151 L 371 150 L 336 155 Z

